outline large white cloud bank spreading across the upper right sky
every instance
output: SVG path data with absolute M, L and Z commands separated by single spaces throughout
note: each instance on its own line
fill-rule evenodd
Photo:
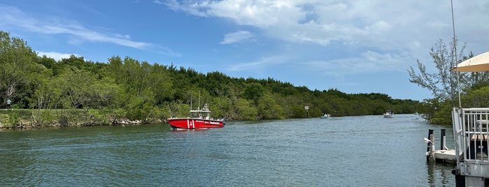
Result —
M 409 50 L 406 43 L 413 40 L 431 46 L 438 38 L 452 37 L 450 1 L 169 0 L 164 4 L 191 15 L 222 17 L 256 27 L 270 38 L 290 43 L 330 45 L 336 42 L 402 51 Z M 456 11 L 474 4 L 481 6 L 475 6 L 478 11 L 470 15 Z M 461 24 L 472 23 L 472 27 L 488 31 L 488 24 L 475 24 L 476 20 L 471 20 L 471 17 L 488 17 L 488 3 L 479 0 L 454 6 L 455 19 Z

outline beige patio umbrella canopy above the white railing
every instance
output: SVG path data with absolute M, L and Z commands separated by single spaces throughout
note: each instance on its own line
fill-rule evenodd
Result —
M 464 72 L 481 72 L 489 71 L 489 52 L 479 54 L 476 57 L 462 61 L 457 65 L 458 68 L 453 68 L 451 71 L 464 71 Z

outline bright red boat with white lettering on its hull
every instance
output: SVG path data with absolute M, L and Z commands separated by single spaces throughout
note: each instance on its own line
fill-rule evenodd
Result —
M 211 118 L 211 111 L 208 110 L 207 104 L 202 109 L 190 110 L 190 114 L 192 117 L 169 118 L 167 120 L 172 128 L 216 128 L 225 125 L 224 119 Z

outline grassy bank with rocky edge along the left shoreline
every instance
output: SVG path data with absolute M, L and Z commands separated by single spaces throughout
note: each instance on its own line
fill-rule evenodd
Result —
M 0 128 L 117 126 L 163 121 L 163 119 L 129 120 L 118 113 L 120 112 L 117 110 L 1 109 Z

